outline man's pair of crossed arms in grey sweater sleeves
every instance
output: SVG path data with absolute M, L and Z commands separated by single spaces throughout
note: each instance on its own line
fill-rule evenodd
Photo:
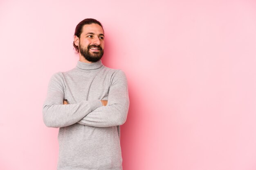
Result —
M 124 72 L 118 71 L 110 85 L 108 100 L 83 100 L 76 104 L 63 102 L 64 82 L 60 74 L 52 76 L 43 106 L 43 120 L 48 127 L 64 127 L 74 123 L 108 127 L 126 121 L 129 97 Z M 63 105 L 64 104 L 64 105 Z

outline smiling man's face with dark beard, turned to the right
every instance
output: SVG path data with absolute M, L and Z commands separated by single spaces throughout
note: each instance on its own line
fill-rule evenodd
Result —
M 104 33 L 98 24 L 83 26 L 79 38 L 79 52 L 88 61 L 96 62 L 104 53 Z

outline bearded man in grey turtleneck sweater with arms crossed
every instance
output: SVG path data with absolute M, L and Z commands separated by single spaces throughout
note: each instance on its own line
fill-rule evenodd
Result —
M 85 19 L 77 26 L 76 68 L 49 81 L 43 120 L 59 128 L 58 170 L 121 170 L 120 126 L 126 121 L 129 97 L 126 75 L 101 63 L 104 31 Z

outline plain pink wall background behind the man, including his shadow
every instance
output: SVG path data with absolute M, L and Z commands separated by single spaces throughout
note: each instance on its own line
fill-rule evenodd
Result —
M 1 0 L 0 170 L 56 169 L 42 105 L 88 17 L 128 78 L 124 170 L 256 170 L 254 0 Z

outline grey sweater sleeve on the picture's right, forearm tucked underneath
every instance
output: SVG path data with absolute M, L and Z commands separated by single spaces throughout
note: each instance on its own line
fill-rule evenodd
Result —
M 78 123 L 88 126 L 109 127 L 124 124 L 129 109 L 127 78 L 123 71 L 118 70 L 112 76 L 108 93 L 108 104 L 98 107 Z

